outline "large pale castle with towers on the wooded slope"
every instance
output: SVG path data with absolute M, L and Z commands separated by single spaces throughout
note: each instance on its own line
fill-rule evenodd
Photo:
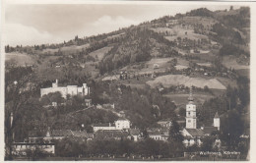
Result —
M 77 86 L 77 85 L 67 85 L 67 86 L 59 86 L 58 80 L 56 82 L 52 83 L 52 87 L 46 87 L 40 89 L 40 95 L 41 97 L 43 95 L 46 95 L 48 93 L 53 93 L 59 91 L 63 98 L 67 98 L 67 95 L 89 95 L 90 94 L 90 87 L 87 85 L 87 83 L 83 83 L 83 85 Z

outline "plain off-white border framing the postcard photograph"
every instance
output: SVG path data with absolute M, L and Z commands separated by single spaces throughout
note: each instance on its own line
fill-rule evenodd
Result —
M 256 51 L 256 3 L 253 2 L 235 2 L 236 0 L 232 2 L 228 1 L 217 1 L 217 2 L 206 2 L 206 1 L 87 1 L 87 0 L 2 0 L 1 1 L 1 55 L 0 55 L 0 68 L 1 68 L 1 76 L 0 76 L 0 112 L 1 112 L 1 122 L 0 122 L 0 137 L 1 137 L 1 143 L 0 143 L 0 161 L 4 161 L 4 25 L 5 25 L 5 6 L 7 4 L 137 4 L 137 5 L 241 5 L 241 6 L 250 6 L 251 11 L 251 63 L 250 63 L 250 83 L 251 83 L 251 94 L 250 94 L 250 129 L 251 129 L 251 145 L 250 145 L 250 161 L 239 161 L 239 162 L 255 162 L 256 161 L 256 142 L 255 142 L 255 107 L 256 107 L 256 99 L 255 98 L 255 90 L 256 90 L 256 56 L 254 56 L 254 52 Z M 254 145 L 255 144 L 255 145 Z M 9 161 L 7 161 L 9 162 Z M 19 161 L 21 162 L 21 161 Z M 25 161 L 22 161 L 25 162 Z M 42 162 L 42 161 L 41 161 Z M 49 161 L 49 162 L 55 162 L 55 161 Z M 82 162 L 82 161 L 80 161 Z M 83 161 L 84 162 L 84 161 Z M 100 161 L 100 162 L 113 162 L 113 161 Z M 116 161 L 115 161 L 116 162 Z M 131 161 L 121 161 L 121 162 L 131 162 Z M 148 161 L 147 161 L 148 162 Z M 154 161 L 155 162 L 155 161 Z M 171 161 L 171 162 L 182 162 L 182 161 Z M 201 161 L 202 162 L 202 161 Z M 210 161 L 203 161 L 203 162 L 210 162 Z M 237 162 L 237 161 L 228 161 L 228 162 Z

